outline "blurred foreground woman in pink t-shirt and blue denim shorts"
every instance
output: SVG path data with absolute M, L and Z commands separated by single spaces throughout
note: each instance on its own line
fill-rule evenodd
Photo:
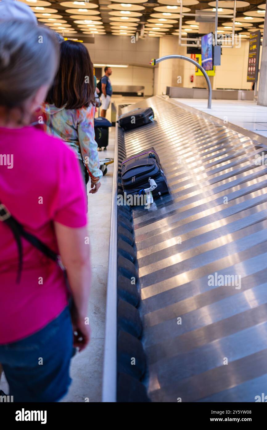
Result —
M 30 126 L 57 72 L 58 50 L 48 28 L 0 25 L 0 363 L 14 402 L 64 396 L 73 348 L 90 338 L 81 170 L 62 140 Z

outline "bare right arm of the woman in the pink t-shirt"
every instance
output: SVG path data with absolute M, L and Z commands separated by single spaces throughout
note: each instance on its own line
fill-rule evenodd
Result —
M 83 350 L 90 340 L 90 329 L 87 321 L 87 309 L 90 294 L 91 269 L 90 245 L 86 244 L 87 228 L 71 228 L 54 222 L 57 243 L 62 263 L 66 267 L 69 286 L 77 310 L 77 320 L 73 328 L 78 332 L 74 346 Z

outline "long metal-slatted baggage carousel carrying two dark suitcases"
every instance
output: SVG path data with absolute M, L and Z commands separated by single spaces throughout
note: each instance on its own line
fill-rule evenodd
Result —
M 149 106 L 154 123 L 117 126 L 103 401 L 255 402 L 267 387 L 266 140 L 160 96 L 122 113 Z M 118 206 L 121 160 L 151 146 L 170 194 Z

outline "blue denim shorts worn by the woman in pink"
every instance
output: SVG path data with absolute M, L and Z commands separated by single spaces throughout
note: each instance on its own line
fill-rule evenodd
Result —
M 14 402 L 57 402 L 71 383 L 73 332 L 69 307 L 39 332 L 0 345 L 0 363 Z

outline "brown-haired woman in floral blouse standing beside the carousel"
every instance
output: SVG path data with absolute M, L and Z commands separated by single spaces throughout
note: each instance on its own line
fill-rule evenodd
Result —
M 60 137 L 75 151 L 90 193 L 100 187 L 97 143 L 94 132 L 93 64 L 86 47 L 66 40 L 60 45 L 60 66 L 43 105 L 45 130 Z

